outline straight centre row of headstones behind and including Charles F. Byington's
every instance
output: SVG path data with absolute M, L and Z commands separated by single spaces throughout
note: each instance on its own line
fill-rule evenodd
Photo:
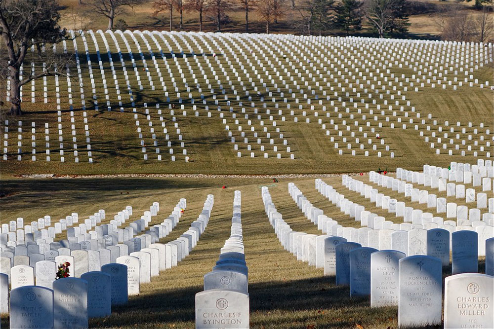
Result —
M 241 192 L 235 191 L 230 237 L 196 293 L 196 328 L 248 328 L 249 295 L 241 222 Z

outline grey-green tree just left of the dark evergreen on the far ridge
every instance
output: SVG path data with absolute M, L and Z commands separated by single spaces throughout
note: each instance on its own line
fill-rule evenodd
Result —
M 298 3 L 292 0 L 292 6 L 302 18 L 300 30 L 303 33 L 321 35 L 331 27 L 334 0 L 302 0 Z

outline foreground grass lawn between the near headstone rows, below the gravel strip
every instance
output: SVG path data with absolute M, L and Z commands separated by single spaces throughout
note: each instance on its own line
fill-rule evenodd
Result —
M 355 179 L 368 182 L 368 176 Z M 368 199 L 341 184 L 341 177 L 325 178 L 337 191 L 384 216 Z M 90 328 L 194 328 L 194 296 L 203 291 L 203 276 L 217 260 L 224 240 L 229 237 L 234 190 L 242 191 L 242 223 L 250 296 L 251 328 L 396 328 L 397 307 L 371 308 L 368 297 L 349 297 L 349 287 L 334 285 L 334 277 L 323 276 L 323 269 L 297 261 L 279 243 L 269 225 L 261 199 L 261 186 L 269 186 L 273 202 L 293 230 L 321 234 L 306 219 L 288 194 L 288 182 L 295 183 L 315 207 L 324 210 L 344 226 L 360 223 L 339 212 L 314 188 L 314 179 L 12 179 L 2 178 L 1 223 L 23 217 L 34 220 L 46 214 L 52 219 L 78 212 L 80 218 L 105 209 L 106 219 L 113 219 L 124 206 L 133 207 L 138 219 L 154 201 L 161 222 L 180 198 L 187 199 L 187 209 L 177 227 L 161 243 L 176 239 L 200 214 L 207 194 L 214 195 L 214 207 L 206 231 L 197 247 L 178 266 L 162 271 L 151 283 L 141 284 L 141 293 L 129 297 L 127 304 L 114 308 L 105 319 L 90 319 Z M 227 188 L 222 189 L 222 185 Z M 388 195 L 394 197 L 390 189 Z M 424 205 L 411 203 L 415 209 Z M 461 204 L 461 201 L 458 203 Z M 386 217 L 401 222 L 402 219 Z M 151 224 L 151 223 L 150 223 Z M 56 240 L 65 238 L 65 231 Z M 484 259 L 479 259 L 479 273 L 484 273 Z M 451 266 L 443 268 L 443 279 L 451 275 Z M 444 287 L 444 282 L 443 282 Z M 1 326 L 8 328 L 2 315 Z M 362 327 L 360 327 L 362 326 Z

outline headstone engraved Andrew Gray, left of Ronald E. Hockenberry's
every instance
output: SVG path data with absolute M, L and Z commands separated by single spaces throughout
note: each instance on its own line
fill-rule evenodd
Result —
M 396 250 L 371 254 L 371 307 L 398 305 L 398 261 L 405 256 Z

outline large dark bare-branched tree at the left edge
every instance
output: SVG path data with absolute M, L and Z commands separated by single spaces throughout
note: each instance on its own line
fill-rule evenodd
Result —
M 28 73 L 20 79 L 20 68 L 32 46 L 56 44 L 66 37 L 65 29 L 58 25 L 60 6 L 56 0 L 0 0 L 0 37 L 6 49 L 0 66 L 0 79 L 10 80 L 10 113 L 22 114 L 20 92 L 21 86 L 34 79 L 48 75 L 64 75 L 57 72 L 70 63 L 69 55 L 60 55 L 54 51 L 41 51 L 39 60 L 46 64 L 39 73 Z M 5 63 L 8 61 L 8 64 Z

